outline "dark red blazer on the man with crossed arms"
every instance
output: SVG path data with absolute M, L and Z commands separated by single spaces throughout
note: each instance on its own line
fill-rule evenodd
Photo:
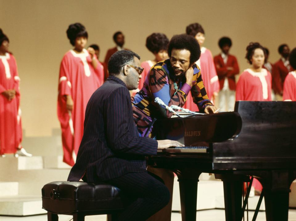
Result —
M 225 65 L 223 58 L 219 54 L 214 57 L 214 63 L 220 82 L 220 90 L 223 89 L 225 77 L 228 78 L 229 89 L 235 90 L 235 75 L 240 73 L 236 57 L 228 54 L 227 63 Z M 232 67 L 233 70 L 227 70 L 227 67 Z

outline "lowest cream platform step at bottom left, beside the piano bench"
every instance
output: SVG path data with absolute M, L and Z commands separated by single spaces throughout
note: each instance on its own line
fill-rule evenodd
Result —
M 40 195 L 0 197 L 0 215 L 27 216 L 47 213 L 42 209 Z

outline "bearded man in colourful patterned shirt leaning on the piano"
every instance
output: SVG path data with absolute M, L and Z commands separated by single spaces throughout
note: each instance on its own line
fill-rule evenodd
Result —
M 169 59 L 156 63 L 150 69 L 142 90 L 132 97 L 134 121 L 142 137 L 153 137 L 152 128 L 155 119 L 170 118 L 173 115 L 154 102 L 157 97 L 167 106 L 182 107 L 187 94 L 191 92 L 193 102 L 200 111 L 209 114 L 217 110 L 208 98 L 200 68 L 195 64 L 200 57 L 197 40 L 186 34 L 173 36 L 168 45 L 168 55 Z M 172 195 L 173 172 L 149 166 L 147 170 L 161 177 Z M 150 219 L 171 220 L 171 207 L 172 198 L 166 207 Z

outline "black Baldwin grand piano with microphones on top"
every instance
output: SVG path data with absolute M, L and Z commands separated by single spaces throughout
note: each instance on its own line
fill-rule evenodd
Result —
M 223 181 L 227 221 L 242 220 L 242 183 L 249 176 L 263 186 L 266 220 L 288 220 L 296 179 L 296 102 L 238 101 L 234 112 L 157 120 L 154 133 L 157 140 L 178 140 L 188 148 L 148 158 L 150 166 L 177 174 L 183 221 L 196 220 L 197 183 L 204 172 Z

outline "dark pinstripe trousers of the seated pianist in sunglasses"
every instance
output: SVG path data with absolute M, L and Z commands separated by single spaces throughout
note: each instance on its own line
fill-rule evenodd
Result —
M 118 187 L 131 202 L 116 218 L 112 216 L 112 221 L 146 220 L 170 201 L 170 192 L 161 179 L 148 172 L 127 173 L 105 182 Z

